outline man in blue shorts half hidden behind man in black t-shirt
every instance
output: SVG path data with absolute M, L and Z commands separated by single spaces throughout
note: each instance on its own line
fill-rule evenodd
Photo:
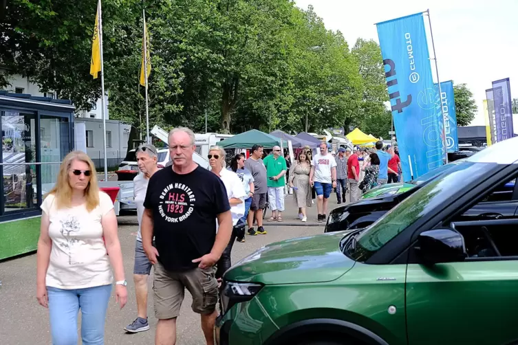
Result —
M 157 151 L 151 144 L 142 144 L 137 149 L 137 163 L 140 170 L 133 179 L 133 197 L 137 206 L 138 232 L 135 242 L 135 263 L 133 265 L 133 282 L 135 282 L 135 295 L 137 298 L 137 318 L 128 326 L 125 331 L 138 333 L 147 331 L 147 280 L 151 273 L 151 262 L 147 258 L 142 247 L 142 214 L 144 214 L 144 199 L 146 199 L 147 185 L 149 179 L 158 171 Z

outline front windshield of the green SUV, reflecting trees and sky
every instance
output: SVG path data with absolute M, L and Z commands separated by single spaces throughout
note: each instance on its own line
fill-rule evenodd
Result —
M 392 238 L 419 221 L 424 214 L 465 192 L 467 186 L 493 173 L 495 167 L 497 164 L 473 162 L 453 165 L 447 174 L 424 184 L 420 190 L 358 235 L 355 245 L 345 254 L 354 260 L 365 262 Z

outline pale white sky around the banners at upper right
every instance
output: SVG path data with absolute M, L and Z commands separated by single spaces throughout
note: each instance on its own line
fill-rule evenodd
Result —
M 354 46 L 358 37 L 372 38 L 379 43 L 374 23 L 429 8 L 440 79 L 453 80 L 457 84 L 465 82 L 471 89 L 479 109 L 471 124 L 484 125 L 482 100 L 486 98 L 486 89 L 491 88 L 493 80 L 510 78 L 511 95 L 518 98 L 517 0 L 295 2 L 303 9 L 313 5 L 327 29 L 340 30 L 349 47 Z M 431 41 L 429 46 L 431 49 Z M 432 72 L 435 80 L 435 70 Z

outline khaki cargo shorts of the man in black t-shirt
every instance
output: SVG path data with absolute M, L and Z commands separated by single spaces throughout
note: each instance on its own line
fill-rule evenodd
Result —
M 215 267 L 173 272 L 156 263 L 153 278 L 155 317 L 159 320 L 177 318 L 185 289 L 193 296 L 191 308 L 195 313 L 213 313 L 218 294 L 215 272 Z

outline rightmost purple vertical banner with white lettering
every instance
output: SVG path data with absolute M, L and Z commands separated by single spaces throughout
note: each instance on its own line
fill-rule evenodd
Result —
M 501 142 L 514 136 L 509 78 L 493 82 L 493 99 L 495 100 L 497 140 Z

